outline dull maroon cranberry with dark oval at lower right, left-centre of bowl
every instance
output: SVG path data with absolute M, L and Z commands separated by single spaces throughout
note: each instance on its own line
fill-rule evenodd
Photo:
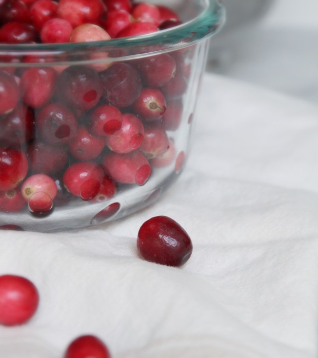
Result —
M 65 144 L 77 131 L 77 120 L 73 113 L 60 103 L 45 106 L 35 118 L 39 136 L 50 144 Z

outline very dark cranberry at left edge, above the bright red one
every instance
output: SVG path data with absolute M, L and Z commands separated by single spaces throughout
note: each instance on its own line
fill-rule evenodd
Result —
M 34 113 L 30 108 L 17 105 L 0 120 L 0 142 L 21 147 L 33 138 Z

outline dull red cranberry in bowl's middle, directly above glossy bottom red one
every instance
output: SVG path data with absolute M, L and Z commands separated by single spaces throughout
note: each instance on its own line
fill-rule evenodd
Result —
M 74 158 L 90 161 L 100 155 L 105 147 L 103 137 L 91 135 L 84 126 L 79 126 L 75 137 L 68 143 L 68 149 Z

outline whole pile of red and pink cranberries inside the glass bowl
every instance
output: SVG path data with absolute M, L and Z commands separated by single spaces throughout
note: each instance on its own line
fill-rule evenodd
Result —
M 131 0 L 0 0 L 0 47 L 108 41 L 180 23 L 167 7 Z M 173 133 L 184 117 L 191 55 L 112 62 L 104 54 L 63 66 L 31 54 L 15 66 L 16 58 L 0 56 L 0 211 L 46 216 L 144 185 L 155 168 L 178 172 L 184 152 Z

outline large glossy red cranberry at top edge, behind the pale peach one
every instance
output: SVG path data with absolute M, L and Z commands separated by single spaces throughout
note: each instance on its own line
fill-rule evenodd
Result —
M 57 15 L 75 28 L 83 24 L 98 24 L 103 11 L 100 0 L 59 0 Z

